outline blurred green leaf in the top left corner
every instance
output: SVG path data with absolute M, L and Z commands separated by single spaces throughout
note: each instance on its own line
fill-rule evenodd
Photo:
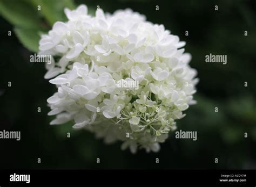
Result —
M 41 27 L 38 12 L 27 1 L 1 0 L 0 13 L 13 25 L 23 28 Z

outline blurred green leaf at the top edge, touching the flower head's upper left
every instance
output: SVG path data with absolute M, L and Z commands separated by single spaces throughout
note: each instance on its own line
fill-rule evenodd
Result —
M 49 25 L 56 21 L 66 21 L 64 8 L 75 9 L 71 0 L 52 1 L 52 0 L 31 0 L 31 4 L 38 9 L 38 12 L 46 19 Z

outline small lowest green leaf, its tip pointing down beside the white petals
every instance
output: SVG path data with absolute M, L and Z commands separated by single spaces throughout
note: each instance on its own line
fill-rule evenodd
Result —
M 38 52 L 40 36 L 37 30 L 26 28 L 14 29 L 19 41 L 32 52 Z

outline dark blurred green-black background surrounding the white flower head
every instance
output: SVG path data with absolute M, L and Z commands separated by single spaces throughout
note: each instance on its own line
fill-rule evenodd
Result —
M 16 14 L 19 19 L 36 9 L 37 4 L 46 6 L 50 2 L 57 2 L 49 6 L 54 13 L 60 12 L 61 18 L 45 20 L 44 12 L 42 15 L 30 12 L 32 16 L 24 22 L 28 24 L 27 38 L 22 37 L 18 29 L 24 24 L 19 25 L 19 21 L 9 16 Z M 198 70 L 200 78 L 194 96 L 198 104 L 185 111 L 187 116 L 177 120 L 177 126 L 178 130 L 197 131 L 198 140 L 176 139 L 173 132 L 161 143 L 159 153 L 146 154 L 139 150 L 136 155 L 120 150 L 120 142 L 105 145 L 89 132 L 73 131 L 70 123 L 49 125 L 52 118 L 47 116 L 50 109 L 46 99 L 56 88 L 44 80 L 43 63 L 30 63 L 33 52 L 20 41 L 25 46 L 25 39 L 28 45 L 31 42 L 30 18 L 38 17 L 44 32 L 55 19 L 65 20 L 63 2 L 70 3 L 66 0 L 0 0 L 0 128 L 21 131 L 21 141 L 0 139 L 0 169 L 256 169 L 256 1 L 73 2 L 75 7 L 86 4 L 89 12 L 94 12 L 97 5 L 111 13 L 125 8 L 138 11 L 152 23 L 164 24 L 172 34 L 179 35 L 180 40 L 187 43 L 185 52 L 192 54 L 190 66 Z M 11 36 L 8 31 L 12 31 Z M 227 64 L 206 63 L 205 55 L 210 53 L 227 55 Z M 248 87 L 244 86 L 245 82 Z M 37 112 L 38 107 L 41 112 Z M 218 112 L 214 111 L 215 107 Z M 71 138 L 66 137 L 68 132 Z M 248 138 L 244 137 L 245 133 Z M 97 157 L 100 163 L 96 163 Z M 41 158 L 41 163 L 37 163 L 37 158 Z M 214 162 L 215 158 L 218 163 Z

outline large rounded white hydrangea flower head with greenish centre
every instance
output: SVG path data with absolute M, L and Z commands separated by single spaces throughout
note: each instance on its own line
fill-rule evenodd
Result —
M 179 49 L 185 42 L 163 25 L 152 24 L 130 9 L 113 15 L 87 7 L 65 9 L 69 21 L 57 22 L 39 42 L 39 54 L 52 55 L 46 79 L 58 92 L 48 99 L 57 115 L 51 124 L 75 120 L 106 142 L 157 152 L 175 119 L 195 103 L 196 70 L 191 55 Z M 60 74 L 60 75 L 59 75 Z M 139 88 L 120 88 L 117 82 L 138 81 Z

